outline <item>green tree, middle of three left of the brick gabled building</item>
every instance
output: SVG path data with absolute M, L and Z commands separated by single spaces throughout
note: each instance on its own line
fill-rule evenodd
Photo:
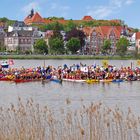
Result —
M 49 53 L 51 54 L 64 54 L 64 43 L 63 40 L 59 37 L 49 39 Z

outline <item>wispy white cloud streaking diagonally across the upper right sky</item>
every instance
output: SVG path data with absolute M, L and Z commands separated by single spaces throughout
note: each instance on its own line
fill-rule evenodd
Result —
M 114 13 L 118 13 L 122 7 L 131 5 L 134 0 L 109 0 L 107 5 L 97 7 L 87 7 L 87 14 L 95 18 L 106 18 Z

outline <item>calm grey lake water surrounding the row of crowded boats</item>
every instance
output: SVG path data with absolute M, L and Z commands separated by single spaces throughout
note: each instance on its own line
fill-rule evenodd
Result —
M 72 65 L 79 63 L 92 65 L 101 65 L 101 60 L 45 60 L 45 65 Z M 136 66 L 134 60 L 111 60 L 109 64 L 120 67 L 121 65 Z M 15 65 L 12 67 L 37 67 L 43 66 L 43 60 L 14 60 Z M 64 108 L 66 99 L 71 100 L 70 107 L 77 109 L 81 103 L 86 105 L 91 102 L 102 102 L 106 106 L 119 106 L 123 110 L 131 107 L 134 112 L 140 114 L 140 82 L 122 82 L 122 83 L 71 83 L 63 82 L 58 84 L 55 82 L 41 83 L 20 83 L 0 82 L 0 105 L 7 106 L 10 103 L 17 103 L 17 98 L 21 97 L 24 101 L 29 98 L 41 105 L 48 105 L 54 110 Z

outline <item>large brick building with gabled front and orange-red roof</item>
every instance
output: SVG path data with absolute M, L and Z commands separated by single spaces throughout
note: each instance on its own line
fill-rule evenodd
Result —
M 101 51 L 104 40 L 108 39 L 111 42 L 111 52 L 116 51 L 116 43 L 121 35 L 121 27 L 114 26 L 98 26 L 85 27 L 83 32 L 86 35 L 86 43 L 84 50 L 88 54 L 98 54 Z

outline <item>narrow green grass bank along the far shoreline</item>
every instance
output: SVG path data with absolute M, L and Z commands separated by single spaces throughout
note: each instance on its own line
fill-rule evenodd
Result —
M 140 58 L 140 57 L 138 57 Z M 137 59 L 138 59 L 137 58 Z M 94 55 L 1 55 L 0 59 L 111 59 L 111 60 L 129 60 L 136 59 L 132 56 L 94 56 Z

